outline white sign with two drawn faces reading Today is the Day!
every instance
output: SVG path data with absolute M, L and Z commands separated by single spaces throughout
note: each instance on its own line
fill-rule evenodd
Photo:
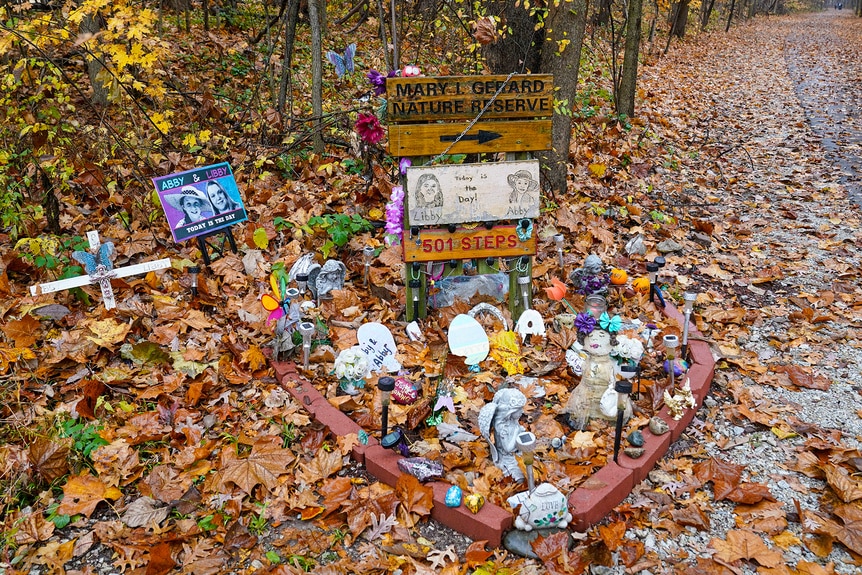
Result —
M 407 168 L 407 223 L 440 226 L 539 216 L 539 162 Z

